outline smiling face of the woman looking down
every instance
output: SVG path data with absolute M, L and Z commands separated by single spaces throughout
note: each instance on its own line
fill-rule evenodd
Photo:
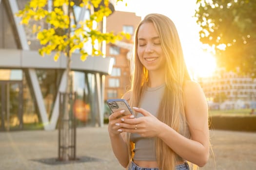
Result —
M 140 62 L 149 72 L 164 70 L 165 57 L 153 23 L 148 22 L 140 25 L 137 52 Z

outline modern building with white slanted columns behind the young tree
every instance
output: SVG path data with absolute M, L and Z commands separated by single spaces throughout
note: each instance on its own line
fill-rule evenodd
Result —
M 40 47 L 31 25 L 20 24 L 15 14 L 27 0 L 0 1 L 0 130 L 45 130 L 57 127 L 59 92 L 66 87 L 66 57 L 57 62 L 53 54 L 40 56 Z M 48 3 L 51 4 L 52 0 Z M 90 10 L 77 7 L 78 18 L 90 17 Z M 44 23 L 37 23 L 42 24 Z M 73 54 L 73 87 L 83 110 L 79 125 L 103 125 L 104 76 L 112 69 L 111 58 L 88 57 L 80 61 Z

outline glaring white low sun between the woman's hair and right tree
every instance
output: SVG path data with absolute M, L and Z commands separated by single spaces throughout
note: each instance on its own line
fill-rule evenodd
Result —
M 195 79 L 211 77 L 217 68 L 215 56 L 208 51 L 198 51 L 194 57 L 185 58 L 185 60 Z

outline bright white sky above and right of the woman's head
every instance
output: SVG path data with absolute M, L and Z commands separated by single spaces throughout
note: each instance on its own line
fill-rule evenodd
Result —
M 127 6 L 125 6 L 127 3 Z M 215 69 L 215 59 L 201 50 L 199 26 L 194 18 L 196 0 L 123 0 L 117 11 L 135 12 L 144 17 L 159 13 L 170 17 L 177 27 L 186 63 L 194 76 L 209 76 Z

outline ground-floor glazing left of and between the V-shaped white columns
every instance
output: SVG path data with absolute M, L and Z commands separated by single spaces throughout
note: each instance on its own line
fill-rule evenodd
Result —
M 36 72 L 47 116 L 50 117 L 61 71 L 38 69 Z M 1 130 L 42 129 L 33 87 L 26 71 L 23 73 L 21 69 L 0 69 L 0 75 L 5 75 L 0 78 Z

